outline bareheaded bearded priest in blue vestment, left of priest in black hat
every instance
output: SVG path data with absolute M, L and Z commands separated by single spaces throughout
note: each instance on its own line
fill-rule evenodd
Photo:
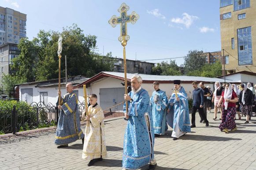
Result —
M 165 91 L 159 89 L 159 82 L 155 81 L 153 83 L 153 91 L 152 96 L 150 98 L 150 103 L 152 105 L 152 119 L 154 125 L 154 134 L 155 137 L 159 137 L 160 135 L 164 135 L 164 131 L 167 130 L 166 124 L 166 107 L 167 107 L 167 96 Z

